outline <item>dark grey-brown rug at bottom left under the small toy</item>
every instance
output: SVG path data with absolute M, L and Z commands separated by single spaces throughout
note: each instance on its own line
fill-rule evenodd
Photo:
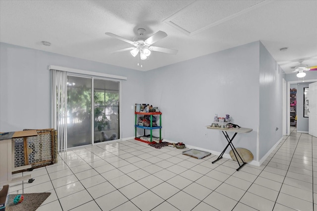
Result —
M 14 204 L 14 198 L 19 194 L 10 194 L 8 204 L 5 207 L 5 211 L 36 211 L 42 203 L 51 195 L 50 192 L 45 193 L 31 193 L 21 194 L 24 196 L 24 200 L 19 204 Z

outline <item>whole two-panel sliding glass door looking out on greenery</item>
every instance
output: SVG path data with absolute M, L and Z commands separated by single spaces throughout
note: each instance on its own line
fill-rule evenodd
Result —
M 117 81 L 67 76 L 67 148 L 120 138 L 119 87 Z

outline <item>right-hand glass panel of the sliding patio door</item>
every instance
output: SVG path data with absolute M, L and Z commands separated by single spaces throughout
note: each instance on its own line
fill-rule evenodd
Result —
M 119 139 L 119 82 L 94 80 L 94 142 Z

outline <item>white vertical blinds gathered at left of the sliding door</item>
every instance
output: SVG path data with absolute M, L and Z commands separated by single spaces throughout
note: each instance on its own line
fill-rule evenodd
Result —
M 58 151 L 67 151 L 67 72 L 52 69 L 52 127 L 57 130 Z

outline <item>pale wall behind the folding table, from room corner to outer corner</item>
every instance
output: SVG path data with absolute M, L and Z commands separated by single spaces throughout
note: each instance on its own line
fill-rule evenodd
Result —
M 145 103 L 159 106 L 164 139 L 221 152 L 227 144 L 223 134 L 206 126 L 211 125 L 215 113 L 230 114 L 233 123 L 253 129 L 249 134 L 237 135 L 235 147 L 250 150 L 256 158 L 259 42 L 145 74 L 148 94 Z

